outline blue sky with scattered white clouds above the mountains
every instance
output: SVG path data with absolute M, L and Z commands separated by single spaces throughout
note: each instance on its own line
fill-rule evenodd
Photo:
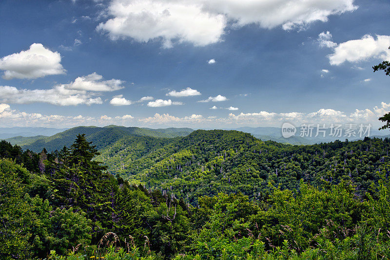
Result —
M 2 0 L 0 127 L 372 124 L 387 0 Z

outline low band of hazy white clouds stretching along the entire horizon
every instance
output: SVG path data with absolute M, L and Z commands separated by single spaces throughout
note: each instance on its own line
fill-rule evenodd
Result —
M 373 109 L 363 109 L 351 113 L 337 111 L 333 109 L 319 109 L 314 112 L 285 112 L 276 113 L 269 111 L 258 111 L 252 113 L 230 113 L 227 117 L 208 116 L 203 117 L 199 114 L 176 117 L 170 114 L 156 113 L 151 117 L 133 117 L 132 115 L 109 116 L 101 115 L 98 117 L 89 116 L 65 116 L 65 115 L 45 115 L 40 113 L 28 113 L 24 111 L 12 110 L 7 104 L 0 104 L 0 122 L 1 126 L 45 126 L 45 127 L 72 127 L 80 125 L 105 126 L 109 124 L 124 125 L 130 120 L 137 120 L 143 125 L 161 125 L 169 126 L 203 126 L 218 127 L 222 126 L 276 126 L 280 127 L 283 122 L 292 122 L 295 126 L 300 124 L 360 124 L 371 123 L 378 125 L 378 117 L 390 111 L 390 103 L 382 102 L 380 106 Z M 135 121 L 131 121 L 135 122 Z M 134 125 L 134 123 L 132 124 Z

